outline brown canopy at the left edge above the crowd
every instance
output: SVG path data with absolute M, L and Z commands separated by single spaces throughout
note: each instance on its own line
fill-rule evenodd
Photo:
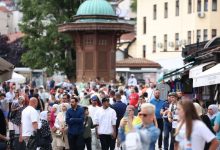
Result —
M 12 77 L 14 65 L 0 57 L 0 82 L 7 81 Z

